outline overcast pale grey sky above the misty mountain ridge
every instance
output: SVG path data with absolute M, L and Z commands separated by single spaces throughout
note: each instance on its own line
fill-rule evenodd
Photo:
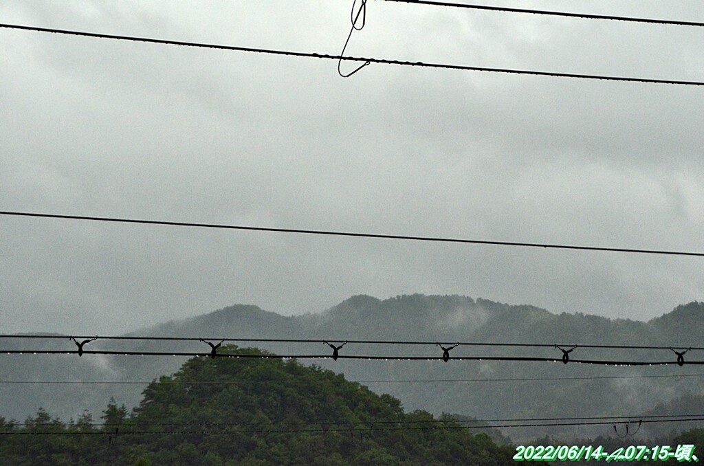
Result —
M 351 3 L 17 0 L 0 22 L 339 53 Z M 520 6 L 704 21 L 698 0 Z M 704 80 L 703 27 L 383 1 L 347 53 Z M 382 64 L 343 79 L 329 60 L 6 29 L 0 57 L 0 210 L 704 251 L 702 87 Z M 353 294 L 640 320 L 704 300 L 687 257 L 14 217 L 0 255 L 3 332 Z

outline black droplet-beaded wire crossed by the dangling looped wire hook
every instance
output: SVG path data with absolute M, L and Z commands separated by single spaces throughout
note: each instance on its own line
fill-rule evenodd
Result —
M 384 63 L 386 65 L 403 65 L 403 66 L 417 66 L 422 68 L 442 68 L 446 70 L 462 70 L 462 71 L 486 71 L 488 73 L 508 73 L 513 75 L 534 75 L 534 76 L 550 76 L 550 77 L 572 77 L 585 80 L 606 80 L 606 81 L 620 81 L 620 82 L 642 82 L 648 84 L 677 84 L 677 85 L 688 85 L 688 86 L 704 86 L 702 81 L 685 81 L 685 80 L 660 80 L 646 77 L 622 77 L 622 76 L 606 76 L 606 75 L 584 75 L 580 73 L 556 73 L 551 71 L 535 71 L 535 70 L 514 70 L 510 68 L 486 68 L 482 66 L 467 66 L 467 65 L 451 65 L 446 63 L 428 63 L 422 61 L 403 61 L 403 60 L 389 60 L 386 58 L 365 58 L 365 57 L 355 57 L 355 56 L 341 56 L 341 55 L 329 55 L 327 53 L 311 53 L 311 52 L 299 52 L 299 51 L 286 51 L 279 49 L 257 49 L 253 47 L 242 47 L 242 46 L 230 46 L 230 45 L 218 45 L 218 44 L 204 44 L 201 42 L 184 42 L 175 41 L 169 39 L 153 39 L 149 37 L 134 37 L 134 36 L 124 36 L 118 34 L 102 34 L 97 32 L 83 32 L 75 30 L 63 30 L 63 29 L 53 29 L 48 27 L 34 27 L 26 25 L 13 25 L 1 23 L 0 27 L 6 29 L 15 30 L 25 30 L 33 32 L 51 32 L 54 34 L 68 34 L 73 36 L 82 37 L 94 37 L 97 39 L 115 39 L 115 40 L 125 40 L 132 42 L 146 42 L 150 44 L 165 44 L 165 45 L 180 45 L 187 47 L 198 47 L 206 49 L 219 49 L 219 50 L 230 50 L 230 51 L 241 51 L 241 52 L 254 52 L 254 53 L 269 53 L 273 55 L 283 55 L 283 56 L 299 56 L 308 58 L 326 58 L 331 60 L 345 60 L 345 61 L 360 61 L 369 63 Z

